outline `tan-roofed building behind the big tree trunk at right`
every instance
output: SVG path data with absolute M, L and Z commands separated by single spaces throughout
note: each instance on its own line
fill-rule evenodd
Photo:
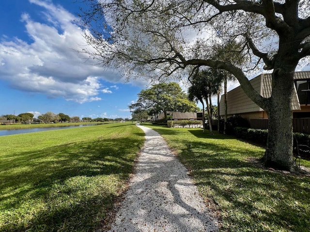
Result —
M 268 98 L 271 96 L 271 74 L 260 74 L 250 80 L 250 83 L 263 97 Z M 223 95 L 221 96 L 219 109 L 220 115 L 224 116 Z M 310 117 L 310 71 L 294 73 L 292 112 L 293 118 Z M 248 119 L 252 128 L 255 128 L 253 126 L 253 119 L 268 118 L 266 112 L 252 102 L 240 86 L 227 93 L 227 114 L 228 117 L 242 116 Z M 265 123 L 264 127 L 266 127 L 266 125 Z

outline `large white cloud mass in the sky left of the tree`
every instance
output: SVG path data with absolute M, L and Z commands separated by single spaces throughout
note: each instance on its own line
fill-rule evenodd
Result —
M 77 52 L 85 41 L 83 31 L 74 23 L 76 17 L 50 1 L 29 1 L 42 7 L 45 21 L 21 15 L 31 43 L 2 37 L 0 78 L 18 90 L 79 103 L 99 101 L 100 93 L 111 93 L 100 81 L 117 83 L 122 79 L 117 72 L 96 66 L 86 54 Z

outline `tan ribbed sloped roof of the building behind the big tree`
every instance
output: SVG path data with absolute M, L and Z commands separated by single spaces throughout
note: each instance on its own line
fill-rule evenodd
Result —
M 310 71 L 295 72 L 294 80 L 310 79 Z M 271 96 L 271 74 L 260 74 L 257 77 L 250 80 L 253 88 L 260 93 L 264 98 Z M 258 105 L 248 98 L 243 89 L 239 86 L 227 93 L 227 113 L 229 115 L 250 113 L 263 111 Z M 300 110 L 299 100 L 297 92 L 294 86 L 294 93 L 292 99 L 292 110 Z M 224 115 L 224 96 L 221 96 L 220 101 L 220 115 Z

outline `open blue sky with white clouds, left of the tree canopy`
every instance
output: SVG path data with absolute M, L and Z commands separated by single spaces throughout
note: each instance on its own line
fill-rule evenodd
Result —
M 77 53 L 73 22 L 82 0 L 0 1 L 0 116 L 51 111 L 82 117 L 130 117 L 145 88 Z

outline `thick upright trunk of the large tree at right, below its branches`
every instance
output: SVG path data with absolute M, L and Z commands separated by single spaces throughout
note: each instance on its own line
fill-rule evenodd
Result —
M 275 69 L 272 74 L 272 94 L 266 112 L 269 118 L 267 147 L 263 161 L 267 167 L 296 170 L 293 160 L 292 96 L 294 68 Z

